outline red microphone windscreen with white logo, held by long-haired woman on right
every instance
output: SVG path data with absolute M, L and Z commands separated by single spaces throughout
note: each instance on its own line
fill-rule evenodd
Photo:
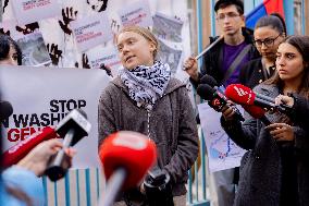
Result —
M 239 105 L 254 105 L 256 94 L 242 84 L 231 84 L 225 89 L 225 96 Z

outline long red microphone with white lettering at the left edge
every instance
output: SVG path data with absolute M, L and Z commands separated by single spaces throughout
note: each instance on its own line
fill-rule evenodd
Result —
M 7 168 L 17 163 L 24 158 L 35 146 L 44 141 L 59 137 L 55 130 L 47 126 L 41 131 L 30 135 L 28 138 L 17 143 L 2 154 L 2 167 Z

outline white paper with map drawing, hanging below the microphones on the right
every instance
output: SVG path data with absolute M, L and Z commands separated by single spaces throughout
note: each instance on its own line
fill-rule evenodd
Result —
M 215 172 L 238 167 L 246 150 L 238 147 L 221 128 L 221 113 L 207 102 L 198 105 L 198 112 L 208 150 L 209 170 Z

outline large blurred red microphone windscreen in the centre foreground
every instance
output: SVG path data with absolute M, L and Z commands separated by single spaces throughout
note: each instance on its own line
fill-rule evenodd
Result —
M 136 186 L 157 159 L 156 144 L 144 134 L 121 131 L 108 136 L 99 148 L 103 171 L 109 180 L 118 168 L 126 179 L 122 190 Z

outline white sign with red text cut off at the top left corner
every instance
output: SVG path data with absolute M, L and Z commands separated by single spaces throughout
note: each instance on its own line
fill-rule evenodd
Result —
M 12 7 L 20 25 L 61 14 L 58 0 L 12 0 Z

